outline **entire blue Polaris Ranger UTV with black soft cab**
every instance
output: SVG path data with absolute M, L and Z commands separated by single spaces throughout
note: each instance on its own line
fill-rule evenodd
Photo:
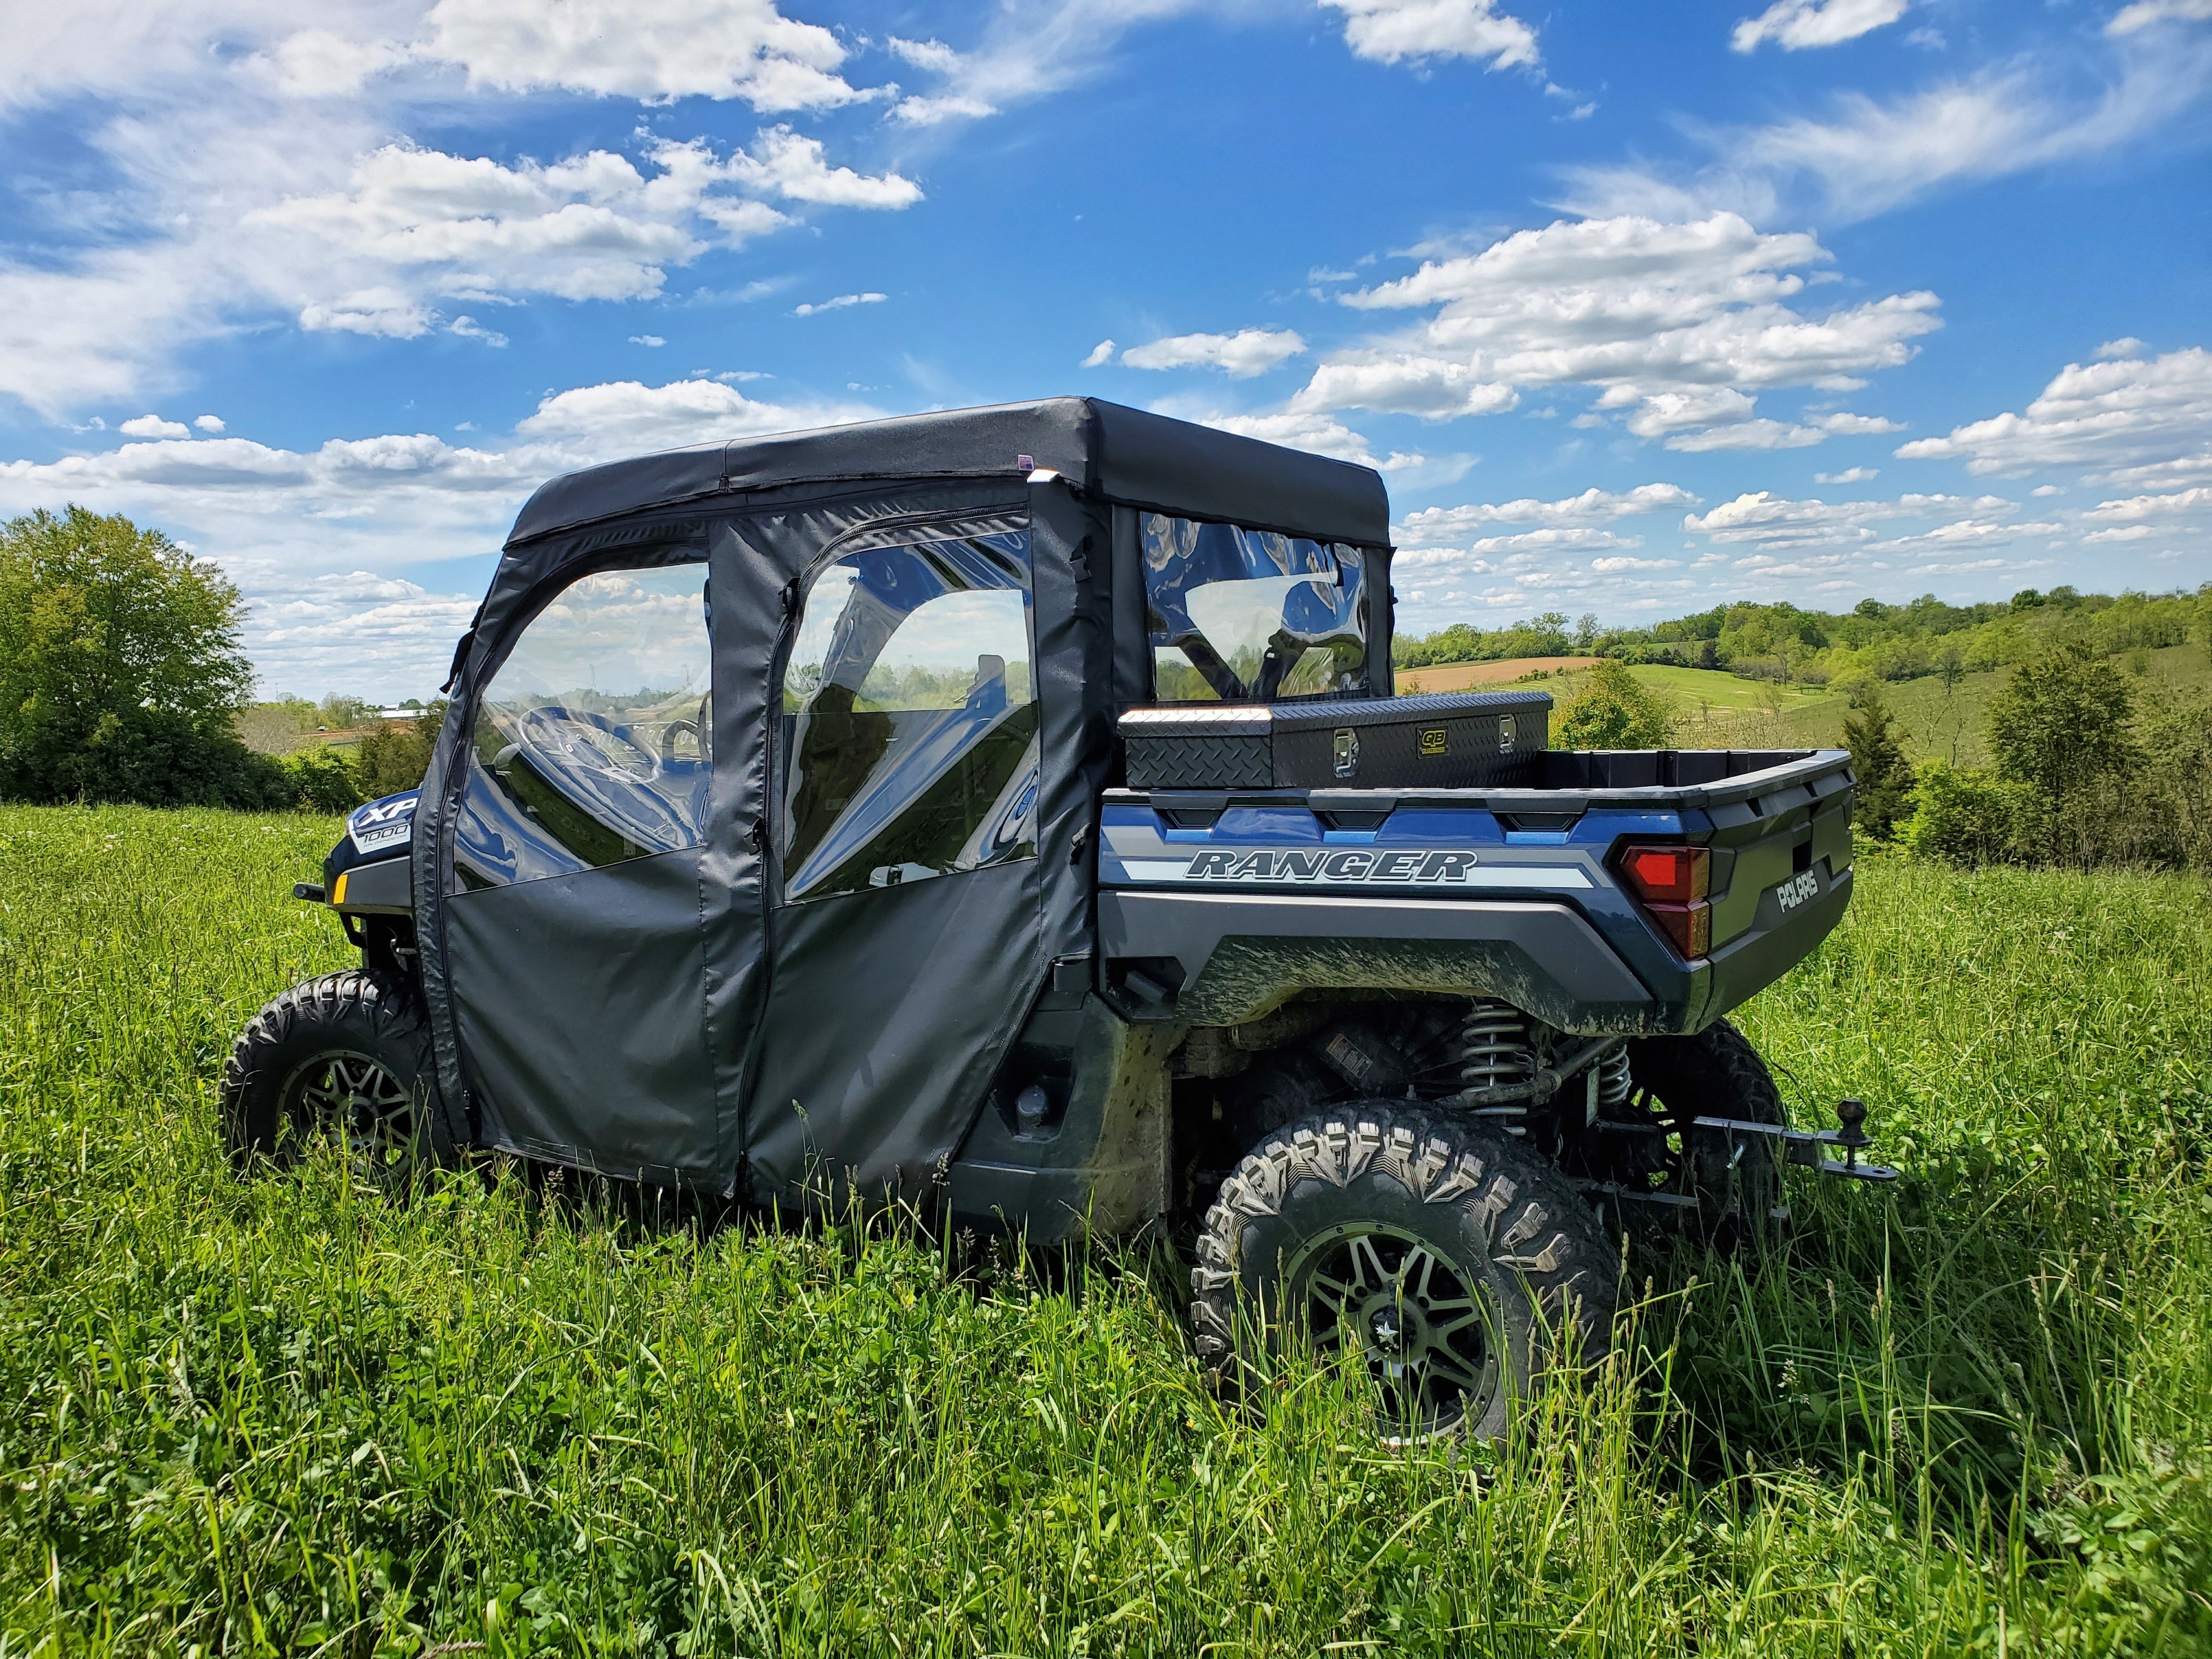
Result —
M 553 480 L 420 790 L 299 889 L 363 967 L 239 1037 L 230 1146 L 1203 1214 L 1208 1365 L 1290 1318 L 1495 1433 L 1624 1225 L 1887 1175 L 1723 1018 L 1849 902 L 1851 774 L 1394 697 L 1389 562 L 1367 467 L 1084 398 Z

